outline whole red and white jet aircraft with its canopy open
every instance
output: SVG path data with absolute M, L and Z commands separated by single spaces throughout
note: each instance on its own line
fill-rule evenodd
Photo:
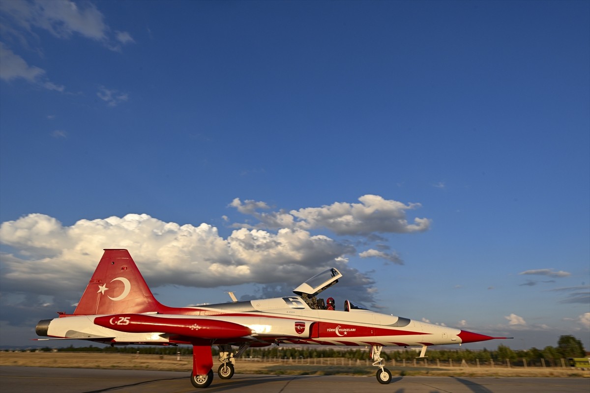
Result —
M 247 348 L 272 344 L 371 346 L 377 380 L 391 381 L 383 346 L 422 346 L 503 339 L 432 325 L 360 308 L 346 300 L 344 311 L 324 309 L 316 296 L 342 277 L 336 269 L 313 276 L 284 298 L 196 307 L 168 307 L 156 300 L 127 250 L 106 249 L 73 314 L 43 319 L 37 335 L 111 345 L 189 344 L 191 382 L 205 388 L 213 379 L 211 346 L 219 348 L 219 378 L 234 375 L 234 359 Z M 47 340 L 47 339 L 40 339 Z M 234 346 L 237 349 L 234 350 Z

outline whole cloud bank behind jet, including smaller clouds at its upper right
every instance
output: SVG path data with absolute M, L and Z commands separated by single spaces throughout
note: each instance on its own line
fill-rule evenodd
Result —
M 263 216 L 257 210 L 270 209 L 268 204 L 241 203 L 235 199 L 231 206 L 240 213 L 260 217 L 261 222 L 236 227 L 227 237 L 220 236 L 218 228 L 207 223 L 181 225 L 163 222 L 148 214 L 83 219 L 71 226 L 64 226 L 55 217 L 45 214 L 28 214 L 0 226 L 2 245 L 10 250 L 1 254 L 2 292 L 26 293 L 30 304 L 47 305 L 47 299 L 44 300 L 47 296 L 53 297 L 53 303 L 76 302 L 102 250 L 126 248 L 154 288 L 164 285 L 213 288 L 257 283 L 266 296 L 280 290 L 284 295 L 285 289 L 289 293 L 310 276 L 327 267 L 336 267 L 346 278 L 340 289 L 345 288 L 356 300 L 372 303 L 376 292 L 374 281 L 366 273 L 350 267 L 349 257 L 358 255 L 361 259 L 371 257 L 402 264 L 399 256 L 395 252 L 374 249 L 359 252 L 350 242 L 314 235 L 311 230 L 304 229 L 325 225 L 338 233 L 359 236 L 385 230 L 401 233 L 415 230 L 414 224 L 404 223 L 405 211 L 417 205 L 378 196 L 363 196 L 359 200 L 361 204 L 335 203 Z M 314 213 L 296 216 L 294 212 Z M 293 219 L 267 219 L 273 215 Z M 388 220 L 394 223 L 386 223 Z M 279 222 L 285 225 L 274 230 L 261 229 Z M 347 230 L 343 230 L 344 227 Z

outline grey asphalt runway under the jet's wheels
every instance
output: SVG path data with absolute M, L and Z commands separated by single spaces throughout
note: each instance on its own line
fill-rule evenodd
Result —
M 588 393 L 589 378 L 394 377 L 381 385 L 375 377 L 345 375 L 217 375 L 210 387 L 195 389 L 189 373 L 49 367 L 0 367 L 2 393 Z

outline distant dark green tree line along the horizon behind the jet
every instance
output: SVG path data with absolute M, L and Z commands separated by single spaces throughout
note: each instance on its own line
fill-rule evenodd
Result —
M 249 348 L 242 354 L 242 357 L 251 358 L 280 358 L 280 359 L 308 359 L 308 358 L 345 358 L 345 359 L 366 359 L 369 357 L 371 348 L 358 347 L 355 349 L 346 348 L 316 348 L 314 346 L 271 346 L 263 348 Z M 54 349 L 45 347 L 40 351 L 54 351 Z M 192 355 L 191 346 L 82 346 L 67 348 L 57 348 L 59 352 L 111 352 L 121 354 L 151 354 L 151 355 Z M 213 346 L 213 354 L 217 355 L 217 347 Z M 500 344 L 496 350 L 484 348 L 481 351 L 471 351 L 470 349 L 428 349 L 427 356 L 429 360 L 440 361 L 462 361 L 474 362 L 476 359 L 484 362 L 494 361 L 501 362 L 509 359 L 515 361 L 519 358 L 525 359 L 548 359 L 557 360 L 562 358 L 582 358 L 586 355 L 584 345 L 572 335 L 560 336 L 557 346 L 546 346 L 543 349 L 530 348 L 525 350 L 514 351 L 507 345 Z M 385 360 L 395 359 L 396 361 L 411 361 L 417 356 L 415 349 L 403 349 L 396 351 L 383 351 L 381 356 Z

